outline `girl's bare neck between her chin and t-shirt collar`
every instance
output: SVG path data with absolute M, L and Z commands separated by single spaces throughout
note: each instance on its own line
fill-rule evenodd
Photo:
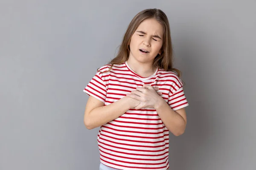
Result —
M 153 68 L 153 62 L 138 62 L 135 59 L 132 59 L 131 57 L 128 58 L 127 64 L 129 67 L 138 75 L 141 77 L 149 77 L 156 71 L 157 68 Z

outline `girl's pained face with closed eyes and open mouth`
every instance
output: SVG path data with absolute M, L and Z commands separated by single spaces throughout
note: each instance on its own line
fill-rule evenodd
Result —
M 129 59 L 153 64 L 157 54 L 161 54 L 162 45 L 161 24 L 153 18 L 144 20 L 131 37 Z

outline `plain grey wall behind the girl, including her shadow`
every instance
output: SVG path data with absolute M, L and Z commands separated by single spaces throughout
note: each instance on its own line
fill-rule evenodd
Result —
M 145 8 L 169 17 L 186 132 L 170 170 L 256 169 L 255 0 L 0 0 L 0 170 L 98 170 L 82 92 Z

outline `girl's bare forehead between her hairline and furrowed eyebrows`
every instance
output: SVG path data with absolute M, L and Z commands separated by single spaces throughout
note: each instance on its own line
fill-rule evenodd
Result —
M 154 18 L 144 20 L 136 31 L 144 31 L 147 34 L 157 34 L 163 37 L 163 26 Z

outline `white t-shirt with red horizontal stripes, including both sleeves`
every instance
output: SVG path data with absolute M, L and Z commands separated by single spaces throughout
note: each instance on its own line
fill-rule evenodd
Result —
M 111 65 L 102 66 L 104 72 Z M 113 65 L 111 71 L 96 72 L 84 92 L 105 105 L 126 96 L 144 84 L 159 87 L 163 99 L 175 111 L 188 106 L 182 82 L 172 71 L 157 68 L 150 77 L 140 77 L 127 62 Z M 100 127 L 100 161 L 120 170 L 167 170 L 169 168 L 169 130 L 154 108 L 130 109 Z

